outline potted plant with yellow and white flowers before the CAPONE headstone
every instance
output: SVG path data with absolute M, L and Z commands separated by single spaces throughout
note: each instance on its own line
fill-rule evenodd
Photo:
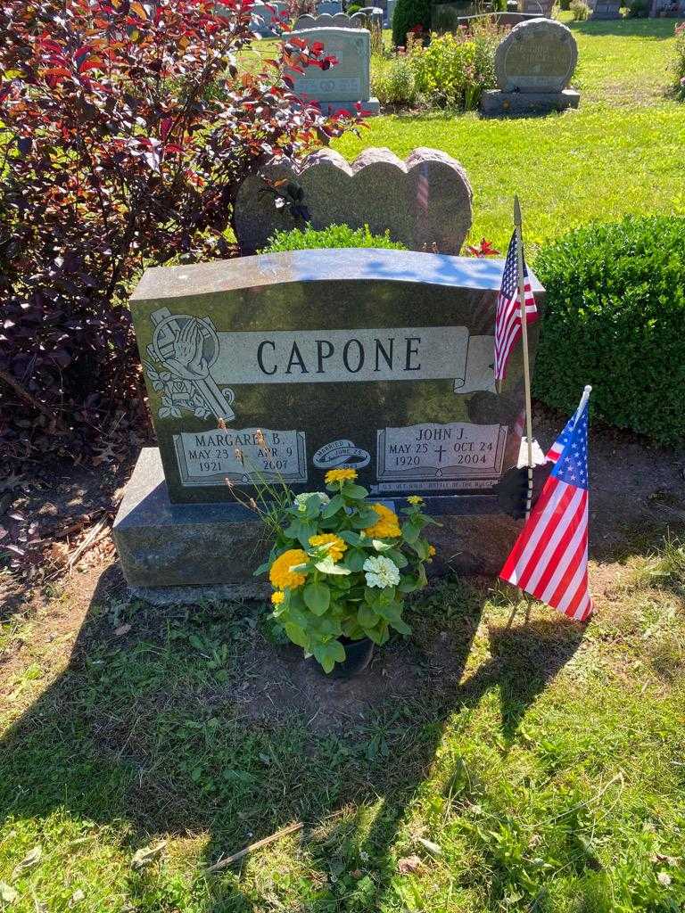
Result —
M 407 593 L 426 585 L 435 548 L 423 535 L 435 522 L 423 498 L 406 498 L 401 517 L 366 500 L 354 469 L 326 473 L 326 492 L 304 492 L 268 516 L 275 541 L 269 561 L 273 617 L 293 644 L 334 677 L 349 677 L 371 660 L 402 617 Z M 287 506 L 286 506 L 287 504 Z

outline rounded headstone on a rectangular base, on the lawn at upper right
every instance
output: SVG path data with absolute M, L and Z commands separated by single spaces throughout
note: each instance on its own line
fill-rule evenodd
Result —
M 511 29 L 495 51 L 498 90 L 484 92 L 486 113 L 577 108 L 579 96 L 568 89 L 578 60 L 570 28 L 553 19 L 531 19 Z

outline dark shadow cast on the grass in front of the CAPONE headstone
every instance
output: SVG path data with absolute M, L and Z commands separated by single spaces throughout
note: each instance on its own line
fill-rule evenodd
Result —
M 100 578 L 67 669 L 0 744 L 0 813 L 110 824 L 124 857 L 159 835 L 208 834 L 193 887 L 207 913 L 261 908 L 239 869 L 202 868 L 293 821 L 313 827 L 300 849 L 304 908 L 377 909 L 450 720 L 498 690 L 508 750 L 583 634 L 563 620 L 490 628 L 490 656 L 464 679 L 486 593 L 451 581 L 415 604 L 414 639 L 333 683 L 269 640 L 261 606 L 153 609 L 124 604 L 119 582 L 116 568 Z M 370 823 L 351 811 L 374 801 Z M 374 877 L 341 880 L 360 855 Z M 152 877 L 128 876 L 142 910 L 157 909 Z

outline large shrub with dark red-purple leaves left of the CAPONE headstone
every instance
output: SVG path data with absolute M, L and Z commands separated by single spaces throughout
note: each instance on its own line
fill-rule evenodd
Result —
M 221 9 L 0 7 L 4 458 L 128 446 L 142 394 L 125 304 L 142 268 L 226 256 L 241 178 L 342 129 L 293 96 L 280 54 L 238 68 L 250 5 Z M 290 61 L 332 64 L 300 44 Z

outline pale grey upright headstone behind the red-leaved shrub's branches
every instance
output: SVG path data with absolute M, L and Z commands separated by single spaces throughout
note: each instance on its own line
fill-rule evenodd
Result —
M 324 18 L 319 16 L 319 21 Z M 294 91 L 305 100 L 318 101 L 321 110 L 335 114 L 340 110 L 361 110 L 376 114 L 377 99 L 371 97 L 371 35 L 365 28 L 305 28 L 291 32 L 289 39 L 301 38 L 308 45 L 321 42 L 326 54 L 337 58 L 328 70 L 306 67 L 303 72 L 288 70 Z

